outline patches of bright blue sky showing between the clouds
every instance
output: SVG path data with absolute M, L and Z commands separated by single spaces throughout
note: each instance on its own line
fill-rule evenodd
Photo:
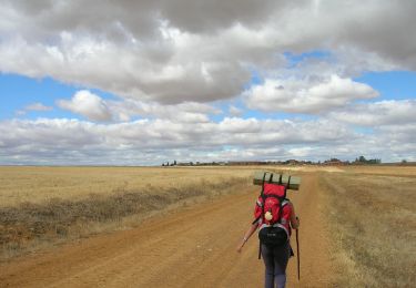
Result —
M 305 58 L 321 58 L 319 54 L 305 53 L 296 55 L 296 60 Z M 416 99 L 416 72 L 413 71 L 388 71 L 388 72 L 367 72 L 354 79 L 357 82 L 365 83 L 379 92 L 379 97 L 371 101 L 382 100 L 408 100 Z M 262 80 L 258 75 L 253 76 L 247 86 L 261 84 Z M 91 89 L 88 86 L 80 86 L 74 84 L 62 83 L 51 78 L 32 79 L 29 76 L 18 74 L 0 74 L 0 119 L 37 119 L 37 117 L 75 117 L 83 119 L 80 115 L 62 110 L 55 105 L 58 100 L 70 100 L 77 91 L 90 90 L 104 100 L 116 100 L 118 96 L 101 90 Z M 24 107 L 42 103 L 45 106 L 51 106 L 51 111 L 28 111 L 24 115 L 19 115 L 18 111 L 23 111 Z M 240 104 L 240 103 L 239 103 Z M 241 106 L 241 105 L 240 105 Z M 226 110 L 226 104 L 220 105 Z M 290 117 L 307 117 L 307 115 L 298 115 L 292 113 L 261 113 L 255 110 L 246 110 L 243 113 L 244 117 L 274 117 L 274 119 L 290 119 Z M 213 117 L 221 121 L 224 114 Z

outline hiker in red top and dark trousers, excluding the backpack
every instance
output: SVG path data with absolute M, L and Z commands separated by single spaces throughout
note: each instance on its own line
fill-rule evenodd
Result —
M 263 192 L 262 192 L 263 194 Z M 285 195 L 285 193 L 284 193 Z M 263 198 L 264 199 L 264 198 Z M 266 202 L 263 202 L 266 203 Z M 278 223 L 284 223 L 283 226 L 285 226 L 285 233 L 287 236 L 291 235 L 291 230 L 297 229 L 300 226 L 300 219 L 295 214 L 295 208 L 293 204 L 288 199 L 283 200 L 283 205 L 280 206 L 282 208 L 282 212 L 280 213 L 281 219 L 278 219 Z M 268 215 L 267 215 L 268 214 Z M 260 228 L 260 232 L 265 226 L 273 226 L 271 222 L 270 212 L 264 213 L 264 207 L 262 207 L 261 197 L 258 197 L 256 202 L 256 208 L 255 208 L 255 216 L 256 219 L 252 223 L 250 228 L 244 235 L 243 240 L 237 247 L 237 251 L 241 253 L 245 243 L 248 240 L 248 238 L 254 234 L 254 232 Z M 268 220 L 267 220 L 268 219 Z M 270 225 L 267 225 L 270 224 Z M 263 257 L 263 261 L 265 265 L 265 280 L 264 280 L 264 287 L 271 288 L 271 287 L 285 287 L 286 284 L 286 266 L 288 258 L 293 256 L 293 251 L 291 248 L 290 239 L 285 236 L 285 240 L 283 244 L 278 245 L 267 245 L 261 241 L 260 246 L 260 253 Z M 258 256 L 260 257 L 260 256 Z

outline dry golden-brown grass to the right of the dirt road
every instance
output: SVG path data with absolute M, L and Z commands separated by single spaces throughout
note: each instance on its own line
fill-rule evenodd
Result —
M 388 168 L 390 175 L 402 175 Z M 339 287 L 416 282 L 416 177 L 322 174 Z M 376 171 L 378 173 L 378 171 Z M 369 175 L 373 174 L 373 175 Z

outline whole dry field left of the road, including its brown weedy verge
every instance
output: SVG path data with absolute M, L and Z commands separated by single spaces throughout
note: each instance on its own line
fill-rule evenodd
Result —
M 244 167 L 0 167 L 0 260 L 235 193 Z

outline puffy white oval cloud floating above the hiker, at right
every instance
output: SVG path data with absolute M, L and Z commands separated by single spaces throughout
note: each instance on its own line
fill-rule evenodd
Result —
M 323 82 L 266 80 L 244 93 L 251 109 L 317 114 L 358 99 L 376 97 L 371 86 L 332 75 Z

